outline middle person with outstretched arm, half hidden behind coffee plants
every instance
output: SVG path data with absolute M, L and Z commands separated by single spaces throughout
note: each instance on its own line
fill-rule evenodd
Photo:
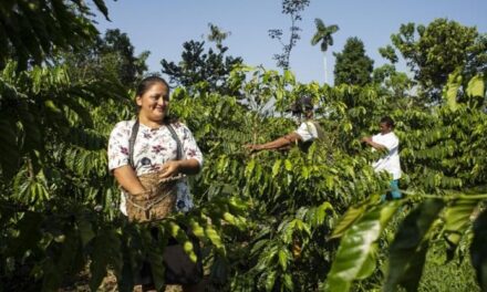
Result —
M 252 152 L 260 150 L 274 150 L 274 149 L 286 149 L 292 145 L 301 145 L 303 150 L 308 150 L 312 142 L 315 139 L 321 139 L 324 133 L 318 123 L 313 122 L 313 103 L 311 97 L 301 97 L 291 107 L 291 112 L 294 116 L 304 115 L 305 121 L 294 131 L 279 137 L 272 142 L 265 144 L 248 144 L 245 145 L 247 149 Z

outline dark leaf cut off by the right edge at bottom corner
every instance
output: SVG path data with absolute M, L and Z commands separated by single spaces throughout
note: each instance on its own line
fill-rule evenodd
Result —
M 472 265 L 477 274 L 481 291 L 487 291 L 487 210 L 474 222 L 474 240 L 470 246 Z

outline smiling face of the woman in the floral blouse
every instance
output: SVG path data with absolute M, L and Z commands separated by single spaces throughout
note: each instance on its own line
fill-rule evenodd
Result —
M 162 82 L 154 83 L 142 96 L 136 97 L 138 115 L 152 122 L 162 122 L 169 108 L 169 88 Z

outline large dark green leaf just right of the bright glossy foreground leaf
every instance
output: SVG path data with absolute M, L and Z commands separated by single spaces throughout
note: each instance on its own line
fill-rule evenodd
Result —
M 396 291 L 397 285 L 404 286 L 407 291 L 417 290 L 427 251 L 426 234 L 443 206 L 442 200 L 426 200 L 401 223 L 390 249 L 384 291 Z

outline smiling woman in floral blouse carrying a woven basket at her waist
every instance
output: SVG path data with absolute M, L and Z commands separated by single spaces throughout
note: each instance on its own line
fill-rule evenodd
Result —
M 173 210 L 186 212 L 193 200 L 185 176 L 199 171 L 201 152 L 191 132 L 169 118 L 169 86 L 164 79 L 144 79 L 135 102 L 137 119 L 116 124 L 108 142 L 108 167 L 123 188 L 121 211 L 136 222 L 157 221 Z M 152 232 L 157 237 L 157 228 Z M 194 244 L 197 253 L 198 244 Z M 201 278 L 200 261 L 190 261 L 176 239 L 169 239 L 166 250 L 172 252 L 164 253 L 165 282 L 194 289 Z M 149 261 L 135 279 L 144 291 L 154 286 Z

